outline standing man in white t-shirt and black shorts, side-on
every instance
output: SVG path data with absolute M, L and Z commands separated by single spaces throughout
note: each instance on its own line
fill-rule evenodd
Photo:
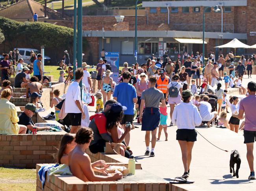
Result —
M 65 113 L 68 113 L 71 121 L 70 133 L 76 133 L 81 127 L 81 118 L 85 119 L 85 114 L 81 105 L 81 89 L 79 82 L 83 78 L 81 68 L 75 71 L 75 80 L 69 85 L 65 100 Z

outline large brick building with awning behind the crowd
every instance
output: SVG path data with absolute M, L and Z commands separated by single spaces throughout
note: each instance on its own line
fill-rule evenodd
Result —
M 218 5 L 222 11 L 214 12 Z M 185 51 L 191 55 L 202 52 L 202 15 L 205 12 L 205 56 L 210 50 L 226 54 L 230 49 L 215 49 L 233 38 L 248 45 L 256 44 L 256 0 L 197 0 L 143 2 L 138 10 L 138 62 L 145 62 L 154 53 L 165 51 L 176 57 Z M 115 16 L 124 15 L 123 22 Z M 222 22 L 223 18 L 223 22 Z M 83 16 L 83 36 L 90 49 L 86 56 L 96 63 L 100 51 L 119 52 L 119 63 L 134 62 L 135 10 L 113 9 L 112 15 Z M 232 49 L 231 49 L 232 50 Z M 249 54 L 253 49 L 237 49 L 237 55 Z M 90 57 L 90 56 L 89 56 Z

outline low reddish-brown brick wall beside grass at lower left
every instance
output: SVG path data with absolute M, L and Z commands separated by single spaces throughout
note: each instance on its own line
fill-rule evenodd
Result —
M 35 168 L 37 163 L 54 163 L 65 132 L 52 135 L 0 135 L 0 166 Z

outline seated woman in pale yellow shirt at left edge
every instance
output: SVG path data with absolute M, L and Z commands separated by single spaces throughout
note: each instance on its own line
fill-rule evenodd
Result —
M 4 89 L 0 99 L 0 134 L 26 134 L 27 127 L 18 125 L 19 117 L 15 105 L 10 102 L 11 90 Z

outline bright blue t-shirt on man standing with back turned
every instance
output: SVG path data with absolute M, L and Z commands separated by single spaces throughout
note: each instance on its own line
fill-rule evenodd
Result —
M 137 98 L 136 89 L 129 83 L 122 82 L 115 87 L 113 97 L 117 97 L 117 101 L 122 106 L 127 107 L 124 111 L 125 115 L 134 115 L 134 102 L 133 98 Z

